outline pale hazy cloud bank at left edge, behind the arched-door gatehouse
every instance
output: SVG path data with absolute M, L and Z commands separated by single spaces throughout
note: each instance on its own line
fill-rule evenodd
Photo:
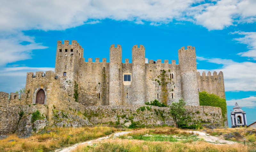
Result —
M 27 72 L 37 71 L 54 71 L 51 67 L 10 67 L 1 68 L 0 73 L 0 86 L 1 91 L 4 92 L 15 92 L 20 88 L 25 87 Z

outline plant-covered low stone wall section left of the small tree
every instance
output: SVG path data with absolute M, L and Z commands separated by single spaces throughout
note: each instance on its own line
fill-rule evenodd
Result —
M 92 124 L 126 125 L 174 125 L 169 107 L 148 105 L 87 106 L 85 116 Z

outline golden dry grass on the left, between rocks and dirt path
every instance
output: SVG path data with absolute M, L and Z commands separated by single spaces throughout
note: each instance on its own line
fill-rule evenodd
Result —
M 8 138 L 0 140 L 0 151 L 53 151 L 57 148 L 73 145 L 78 142 L 92 140 L 106 136 L 117 131 L 116 128 L 81 127 L 81 128 L 48 128 L 50 133 L 35 134 L 27 139 L 18 138 L 16 134 L 11 134 Z M 14 139 L 15 141 L 10 141 Z

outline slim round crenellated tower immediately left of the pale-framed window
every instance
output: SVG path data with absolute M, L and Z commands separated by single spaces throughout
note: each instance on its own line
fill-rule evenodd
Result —
M 109 49 L 109 105 L 121 105 L 123 95 L 122 48 L 112 44 Z

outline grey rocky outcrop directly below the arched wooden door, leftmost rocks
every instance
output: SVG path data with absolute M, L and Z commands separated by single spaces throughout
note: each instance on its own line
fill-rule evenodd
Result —
M 34 123 L 31 122 L 32 115 L 23 116 L 20 119 L 18 129 L 15 133 L 17 133 L 19 138 L 28 138 L 33 133 L 37 133 L 44 129 L 45 126 L 48 125 L 48 121 L 44 118 L 44 120 L 36 120 Z

